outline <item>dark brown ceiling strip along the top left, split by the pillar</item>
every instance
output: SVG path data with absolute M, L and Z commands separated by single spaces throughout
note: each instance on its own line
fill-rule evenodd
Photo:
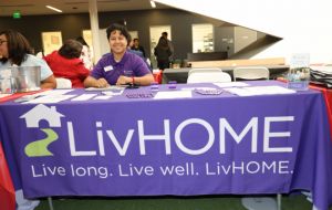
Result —
M 96 0 L 98 12 L 153 9 L 149 0 Z M 11 17 L 14 11 L 21 15 L 61 14 L 45 8 L 52 6 L 63 13 L 87 13 L 89 0 L 1 0 L 0 17 Z M 157 9 L 168 8 L 156 3 Z M 62 14 L 63 14 L 62 13 Z

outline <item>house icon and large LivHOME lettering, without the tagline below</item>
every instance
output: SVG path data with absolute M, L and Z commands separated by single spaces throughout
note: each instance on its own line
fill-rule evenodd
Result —
M 74 114 L 73 114 L 74 115 Z M 271 153 L 292 153 L 293 148 L 288 141 L 291 139 L 291 132 L 289 130 L 289 125 L 292 124 L 295 118 L 294 116 L 251 116 L 243 118 L 243 126 L 241 128 L 236 124 L 231 124 L 228 118 L 220 116 L 215 119 L 205 119 L 189 117 L 180 122 L 168 119 L 165 116 L 164 119 L 156 122 L 145 122 L 144 119 L 132 119 L 124 120 L 118 127 L 116 122 L 112 122 L 108 118 L 100 116 L 95 118 L 94 122 L 89 122 L 89 129 L 85 127 L 80 127 L 77 123 L 75 127 L 74 122 L 66 120 L 65 125 L 61 125 L 61 117 L 63 114 L 59 113 L 55 106 L 48 107 L 45 105 L 37 105 L 20 118 L 25 119 L 28 128 L 39 128 L 40 120 L 46 120 L 50 128 L 39 128 L 46 134 L 43 139 L 32 139 L 34 141 L 25 146 L 25 154 L 28 157 L 43 157 L 53 156 L 53 154 L 48 149 L 48 146 L 55 141 L 59 135 L 52 129 L 59 127 L 61 129 L 66 129 L 62 133 L 64 139 L 68 139 L 69 151 L 71 157 L 77 156 L 107 156 L 112 155 L 108 153 L 113 149 L 120 156 L 126 156 L 127 154 L 136 154 L 139 156 L 146 156 L 152 153 L 147 149 L 148 145 L 162 145 L 160 153 L 165 156 L 170 156 L 173 153 L 181 153 L 189 156 L 199 156 L 218 148 L 219 155 L 226 155 L 227 147 L 239 147 L 245 148 L 243 141 L 250 144 L 246 149 L 251 154 L 271 154 Z M 68 115 L 66 117 L 70 118 Z M 91 120 L 91 118 L 89 119 Z M 91 126 L 92 125 L 94 126 Z M 281 129 L 276 129 L 274 125 L 284 125 Z M 75 127 L 75 128 L 74 128 Z M 154 128 L 162 127 L 163 129 L 157 133 L 152 133 L 151 130 L 156 130 Z M 122 130 L 120 133 L 118 130 Z M 186 136 L 191 132 L 200 130 L 203 136 Z M 59 129 L 56 129 L 59 130 Z M 77 130 L 81 130 L 80 134 Z M 89 134 L 82 136 L 82 133 L 89 132 Z M 76 139 L 76 135 L 80 136 Z M 87 137 L 89 136 L 89 137 Z M 84 138 L 85 146 L 84 149 L 80 147 Z M 272 144 L 280 139 L 281 144 Z M 199 141 L 200 146 L 193 148 L 193 144 Z M 135 146 L 132 146 L 135 145 Z M 114 154 L 114 153 L 113 153 Z

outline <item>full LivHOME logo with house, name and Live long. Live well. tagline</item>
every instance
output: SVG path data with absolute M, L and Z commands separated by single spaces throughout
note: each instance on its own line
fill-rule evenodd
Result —
M 28 145 L 24 147 L 25 155 L 35 160 L 30 165 L 33 178 L 211 177 L 292 172 L 293 162 L 286 154 L 293 153 L 293 147 L 297 145 L 290 138 L 293 130 L 291 125 L 295 122 L 294 116 L 249 116 L 241 119 L 242 126 L 239 127 L 236 123 L 230 123 L 234 122 L 231 118 L 224 116 L 198 118 L 193 114 L 193 117 L 181 120 L 165 116 L 154 122 L 132 118 L 118 124 L 118 120 L 110 119 L 104 115 L 89 117 L 87 120 L 83 120 L 84 116 L 77 119 L 75 116 L 79 114 L 80 109 L 72 109 L 71 113 L 65 113 L 65 120 L 63 120 L 61 117 L 64 115 L 59 113 L 55 106 L 40 104 L 20 116 L 25 120 L 28 132 L 33 133 L 29 135 Z M 71 118 L 75 120 L 69 120 Z M 48 126 L 41 127 L 41 120 L 45 120 Z M 45 137 L 31 137 L 40 132 L 43 132 Z M 186 135 L 195 132 L 200 133 L 199 137 Z M 53 155 L 48 147 L 55 141 L 62 145 L 61 149 L 53 151 Z M 278 144 L 274 144 L 276 141 Z M 196 143 L 199 143 L 199 146 L 193 146 Z M 160 160 L 154 164 L 135 161 L 137 157 L 155 158 L 155 145 Z M 222 158 L 229 154 L 232 156 L 236 149 L 246 153 L 245 157 L 248 158 L 242 159 L 242 155 L 237 156 L 236 159 Z M 66 161 L 61 164 L 58 162 L 58 158 L 53 158 L 60 153 L 66 158 Z M 174 154 L 176 154 L 174 157 L 180 156 L 179 159 L 186 157 L 188 161 L 173 161 L 176 158 L 168 157 Z M 212 157 L 211 160 L 191 158 L 206 154 Z M 107 158 L 102 158 L 105 156 Z M 261 159 L 263 156 L 269 158 Z M 90 158 L 84 158 L 83 162 L 80 157 Z M 115 160 L 116 164 L 110 164 L 110 159 Z

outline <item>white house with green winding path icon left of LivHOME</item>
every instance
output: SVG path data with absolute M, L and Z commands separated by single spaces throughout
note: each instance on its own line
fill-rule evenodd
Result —
M 43 104 L 34 106 L 32 109 L 21 115 L 20 118 L 25 119 L 28 128 L 39 128 L 40 120 L 46 120 L 50 127 L 61 127 L 61 117 L 64 117 L 56 111 L 55 106 L 48 107 Z M 28 157 L 53 156 L 48 149 L 49 145 L 55 141 L 59 136 L 52 128 L 41 129 L 46 137 L 28 144 L 24 153 Z

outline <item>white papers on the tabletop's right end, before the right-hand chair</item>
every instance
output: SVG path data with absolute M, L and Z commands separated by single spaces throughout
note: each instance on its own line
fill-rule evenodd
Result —
M 282 86 L 251 86 L 251 87 L 230 87 L 225 88 L 230 93 L 239 96 L 251 96 L 251 95 L 274 95 L 274 94 L 293 94 L 297 93 L 294 90 L 289 90 Z

